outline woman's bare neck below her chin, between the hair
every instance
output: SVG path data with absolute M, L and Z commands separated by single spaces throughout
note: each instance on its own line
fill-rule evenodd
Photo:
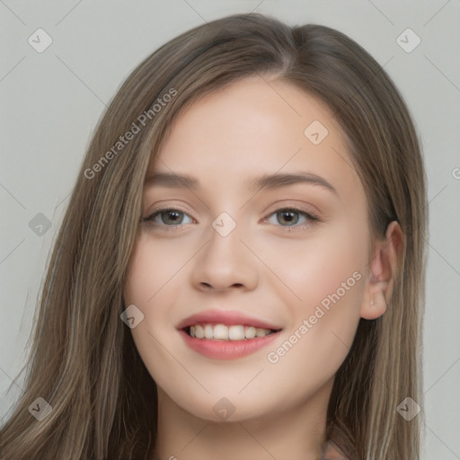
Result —
M 252 419 L 204 420 L 183 410 L 158 387 L 155 460 L 318 460 L 325 443 L 331 380 L 296 407 Z M 225 453 L 225 456 L 222 455 Z

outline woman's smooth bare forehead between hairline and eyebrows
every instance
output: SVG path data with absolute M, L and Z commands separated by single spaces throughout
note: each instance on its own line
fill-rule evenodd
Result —
M 197 187 L 244 183 L 248 189 L 255 176 L 303 172 L 339 193 L 364 193 L 329 107 L 293 84 L 260 76 L 208 93 L 182 111 L 147 178 L 155 172 L 191 175 Z

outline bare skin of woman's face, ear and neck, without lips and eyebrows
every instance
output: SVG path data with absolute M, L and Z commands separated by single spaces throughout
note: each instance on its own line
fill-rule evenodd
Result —
M 318 145 L 304 133 L 314 120 L 328 130 Z M 145 315 L 131 332 L 158 386 L 155 458 L 319 458 L 334 376 L 359 319 L 384 314 L 392 294 L 400 227 L 370 241 L 366 193 L 337 121 L 281 80 L 249 78 L 194 102 L 153 172 L 199 181 L 196 190 L 146 186 L 143 217 L 154 208 L 179 214 L 141 224 L 125 286 L 126 305 Z M 312 182 L 248 187 L 264 173 L 299 172 L 335 191 Z M 236 224 L 226 236 L 211 226 L 223 212 Z M 318 318 L 333 293 L 340 299 Z M 243 358 L 208 358 L 176 329 L 208 309 L 244 312 L 282 331 Z M 293 346 L 279 351 L 292 335 Z M 233 413 L 223 419 L 217 403 Z

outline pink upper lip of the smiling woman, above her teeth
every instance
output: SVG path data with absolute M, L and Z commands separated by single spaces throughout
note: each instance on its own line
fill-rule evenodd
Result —
M 273 331 L 282 329 L 276 324 L 267 323 L 266 321 L 235 310 L 207 310 L 198 314 L 192 314 L 181 321 L 177 325 L 177 329 L 185 329 L 195 324 L 226 324 L 227 326 L 241 324 L 243 326 L 253 326 Z

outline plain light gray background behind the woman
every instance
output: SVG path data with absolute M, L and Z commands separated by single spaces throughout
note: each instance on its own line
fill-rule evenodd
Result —
M 119 84 L 182 31 L 251 11 L 345 32 L 385 66 L 410 107 L 429 177 L 422 458 L 460 459 L 460 0 L 0 0 L 0 415 L 22 393 L 17 373 L 49 248 Z M 28 43 L 39 28 L 53 40 L 42 53 Z M 407 28 L 421 40 L 410 53 L 396 41 Z M 39 213 L 52 222 L 42 236 L 29 226 Z

